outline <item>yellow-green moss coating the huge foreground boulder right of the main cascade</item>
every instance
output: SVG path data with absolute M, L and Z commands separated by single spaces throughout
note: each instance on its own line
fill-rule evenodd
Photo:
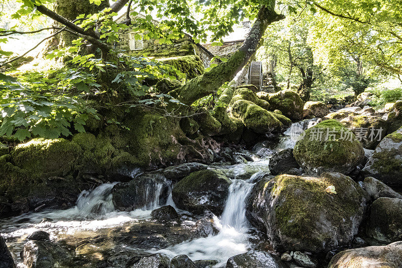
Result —
M 342 230 L 343 224 L 347 221 L 353 224 L 354 217 L 362 216 L 362 191 L 345 175 L 324 173 L 321 178 L 279 175 L 273 183 L 270 189 L 272 198 L 280 196 L 278 200 L 282 200 L 274 208 L 280 235 L 303 241 L 306 250 L 320 250 L 334 239 L 333 234 L 321 231 L 320 223 L 328 220 L 333 229 L 347 232 Z M 327 193 L 328 186 L 334 186 L 337 194 Z M 352 238 L 353 234 L 349 236 Z

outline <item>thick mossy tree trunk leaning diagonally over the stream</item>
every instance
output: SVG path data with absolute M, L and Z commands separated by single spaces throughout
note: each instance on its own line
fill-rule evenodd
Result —
M 274 11 L 275 1 L 269 1 L 269 7 L 262 6 L 258 12 L 257 19 L 248 33 L 243 45 L 228 59 L 212 68 L 209 72 L 189 80 L 183 86 L 176 88 L 169 94 L 180 102 L 191 105 L 196 100 L 216 93 L 218 88 L 225 82 L 231 81 L 233 77 L 246 65 L 255 55 L 259 48 L 261 37 L 266 28 L 273 22 L 284 19 Z

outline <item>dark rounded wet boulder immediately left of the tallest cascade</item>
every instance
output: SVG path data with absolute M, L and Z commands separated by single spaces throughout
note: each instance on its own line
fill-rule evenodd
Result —
M 172 198 L 180 209 L 195 214 L 203 214 L 205 210 L 208 210 L 220 215 L 231 183 L 231 180 L 220 170 L 196 171 L 173 187 Z

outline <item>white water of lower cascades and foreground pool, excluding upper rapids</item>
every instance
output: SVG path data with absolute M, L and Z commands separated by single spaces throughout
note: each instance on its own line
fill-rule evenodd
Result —
M 76 206 L 73 208 L 28 213 L 0 220 L 1 232 L 7 238 L 12 253 L 19 261 L 19 267 L 24 267 L 21 263 L 19 252 L 23 249 L 27 236 L 37 230 L 44 230 L 50 233 L 53 241 L 63 240 L 67 244 L 78 246 L 76 254 L 80 252 L 78 248 L 83 243 L 87 243 L 88 248 L 104 247 L 106 242 L 98 242 L 98 240 L 103 239 L 102 241 L 108 241 L 108 246 L 111 250 L 124 248 L 124 250 L 140 252 L 140 254 L 159 252 L 169 257 L 186 254 L 192 260 L 218 260 L 219 264 L 216 267 L 222 267 L 225 266 L 230 257 L 246 252 L 255 246 L 251 242 L 253 232 L 246 218 L 245 200 L 254 185 L 259 171 L 268 170 L 269 159 L 256 160 L 259 161 L 224 167 L 211 167 L 220 168 L 226 172 L 231 178 L 232 184 L 229 188 L 229 195 L 222 216 L 220 218 L 214 217 L 215 225 L 219 232 L 214 235 L 210 234 L 207 237 L 186 239 L 184 242 L 168 245 L 163 249 L 158 249 L 157 245 L 153 249 L 141 249 L 130 243 L 125 244 L 123 238 L 122 242 L 114 244 L 116 237 L 127 236 L 127 230 L 140 227 L 146 230 L 158 228 L 155 227 L 154 221 L 151 220 L 150 213 L 153 209 L 164 205 L 159 200 L 159 192 L 162 189 L 161 183 L 146 186 L 146 191 L 143 194 L 148 202 L 142 209 L 130 212 L 115 210 L 112 201 L 112 189 L 117 183 L 106 183 L 92 191 L 83 191 L 78 196 Z M 138 171 L 136 172 L 138 173 Z M 171 197 L 171 187 L 169 189 L 170 194 L 166 204 L 176 208 Z M 185 213 L 181 210 L 177 211 Z M 44 218 L 52 221 L 43 220 Z M 189 222 L 190 225 L 195 224 L 195 222 Z M 102 237 L 102 239 L 99 239 L 99 237 Z M 84 252 L 88 254 L 87 251 Z

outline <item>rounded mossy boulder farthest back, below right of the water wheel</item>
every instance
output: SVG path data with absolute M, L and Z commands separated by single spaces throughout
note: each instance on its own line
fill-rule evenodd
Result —
M 257 96 L 267 101 L 271 110 L 279 110 L 291 120 L 303 119 L 304 102 L 294 91 L 283 90 L 272 94 L 259 92 Z

